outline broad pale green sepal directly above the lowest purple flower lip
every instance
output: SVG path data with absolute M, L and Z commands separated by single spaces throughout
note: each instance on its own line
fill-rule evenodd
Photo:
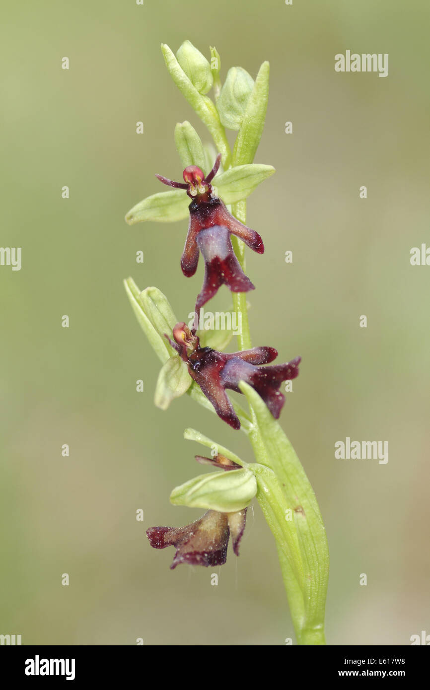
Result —
M 199 475 L 173 489 L 170 502 L 175 506 L 235 513 L 247 508 L 256 493 L 255 476 L 242 468 Z

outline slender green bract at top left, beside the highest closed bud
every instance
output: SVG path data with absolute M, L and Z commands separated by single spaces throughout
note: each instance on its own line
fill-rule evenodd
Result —
M 162 43 L 162 52 L 166 67 L 170 72 L 170 77 L 172 77 L 179 91 L 186 98 L 188 103 L 190 103 L 191 108 L 195 110 L 209 132 L 211 132 L 213 140 L 215 141 L 215 146 L 222 154 L 223 164 L 225 167 L 228 167 L 231 160 L 230 146 L 228 146 L 226 132 L 219 120 L 218 111 L 215 105 L 210 98 L 203 96 L 197 91 L 192 81 L 190 81 L 179 65 L 175 55 L 173 55 L 173 52 L 165 43 Z

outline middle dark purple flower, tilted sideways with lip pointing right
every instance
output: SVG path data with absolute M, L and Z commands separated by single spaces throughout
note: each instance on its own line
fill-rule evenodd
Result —
M 166 336 L 167 337 L 167 336 Z M 273 347 L 255 347 L 243 352 L 224 353 L 210 347 L 201 348 L 199 338 L 184 322 L 173 328 L 175 342 L 169 341 L 188 364 L 190 376 L 215 407 L 224 422 L 240 428 L 240 421 L 226 394 L 226 389 L 242 393 L 239 382 L 245 381 L 262 397 L 273 417 L 280 416 L 285 397 L 279 388 L 283 381 L 295 379 L 299 373 L 301 357 L 286 364 L 259 366 L 273 362 L 277 351 Z

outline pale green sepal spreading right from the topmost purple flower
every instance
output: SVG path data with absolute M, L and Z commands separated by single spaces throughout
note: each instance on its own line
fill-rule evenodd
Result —
M 235 204 L 236 201 L 246 199 L 262 181 L 271 177 L 273 172 L 273 166 L 262 164 L 237 166 L 217 175 L 213 185 L 225 204 Z

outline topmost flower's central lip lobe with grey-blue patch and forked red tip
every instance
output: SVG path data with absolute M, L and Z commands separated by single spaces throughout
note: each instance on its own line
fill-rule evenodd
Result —
M 204 283 L 195 304 L 197 313 L 223 284 L 233 293 L 246 293 L 254 289 L 233 252 L 228 228 L 215 225 L 200 230 L 197 244 L 205 262 Z

